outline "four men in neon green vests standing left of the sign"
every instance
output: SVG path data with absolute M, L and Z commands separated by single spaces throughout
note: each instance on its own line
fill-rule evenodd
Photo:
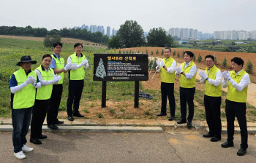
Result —
M 63 124 L 57 119 L 61 95 L 63 91 L 64 73 L 69 73 L 69 95 L 67 99 L 67 115 L 69 121 L 74 121 L 73 116 L 83 117 L 78 111 L 80 98 L 83 92 L 83 79 L 89 60 L 82 54 L 83 45 L 74 45 L 74 54 L 67 59 L 67 65 L 61 57 L 62 44 L 53 44 L 53 55 L 43 55 L 42 64 L 34 71 L 31 65 L 36 60 L 31 60 L 29 55 L 20 58 L 17 63 L 20 68 L 10 77 L 11 108 L 12 108 L 12 143 L 14 156 L 18 159 L 26 158 L 23 152 L 33 151 L 26 146 L 26 135 L 31 123 L 30 142 L 42 144 L 39 139 L 47 138 L 42 135 L 42 124 L 47 114 L 47 124 L 52 130 Z M 32 115 L 32 119 L 31 119 Z

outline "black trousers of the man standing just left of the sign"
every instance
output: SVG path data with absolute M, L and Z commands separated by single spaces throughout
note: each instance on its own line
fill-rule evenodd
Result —
M 83 80 L 69 80 L 69 97 L 67 98 L 67 115 L 78 114 L 79 103 L 83 92 Z M 74 104 L 74 105 L 73 105 Z M 72 111 L 73 106 L 73 111 Z

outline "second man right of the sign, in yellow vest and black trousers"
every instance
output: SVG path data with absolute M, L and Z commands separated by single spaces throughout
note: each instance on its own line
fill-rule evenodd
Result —
M 181 120 L 178 124 L 187 123 L 187 127 L 192 127 L 194 116 L 194 95 L 195 95 L 195 76 L 197 66 L 193 62 L 194 54 L 190 51 L 184 52 L 184 63 L 176 68 L 176 75 L 180 76 L 180 103 Z M 189 116 L 187 117 L 187 105 L 189 106 Z M 186 120 L 187 118 L 187 120 Z

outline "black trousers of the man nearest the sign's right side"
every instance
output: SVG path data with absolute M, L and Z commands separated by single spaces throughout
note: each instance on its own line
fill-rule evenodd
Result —
M 170 116 L 175 116 L 176 103 L 174 98 L 174 83 L 161 82 L 162 106 L 161 113 L 166 113 L 167 97 L 169 99 Z

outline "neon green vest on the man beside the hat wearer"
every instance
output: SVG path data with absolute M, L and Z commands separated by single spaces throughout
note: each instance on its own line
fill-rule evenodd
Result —
M 48 68 L 48 72 L 45 70 L 44 67 L 42 67 L 42 65 L 40 65 L 37 70 L 40 71 L 41 75 L 42 75 L 42 80 L 44 81 L 50 81 L 53 79 L 54 76 L 54 71 L 51 68 Z M 45 85 L 42 86 L 37 89 L 37 96 L 36 99 L 37 100 L 48 100 L 50 98 L 51 92 L 53 90 L 53 84 L 49 84 L 49 85 Z

